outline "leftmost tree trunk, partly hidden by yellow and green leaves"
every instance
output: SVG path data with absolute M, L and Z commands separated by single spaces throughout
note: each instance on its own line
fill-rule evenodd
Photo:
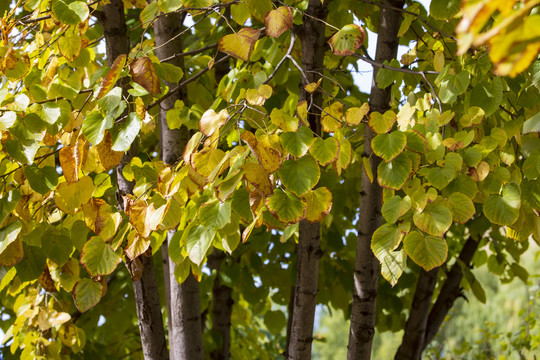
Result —
M 124 4 L 122 0 L 111 0 L 110 4 L 103 6 L 101 17 L 105 33 L 105 47 L 107 63 L 113 61 L 121 54 L 129 53 L 129 39 L 127 37 Z M 125 90 L 125 89 L 124 89 Z M 116 167 L 116 181 L 118 183 L 117 199 L 120 208 L 123 208 L 122 196 L 133 191 L 134 183 L 127 181 L 122 175 L 122 169 L 129 163 L 137 152 L 137 145 L 133 144 L 127 153 L 122 156 L 120 164 Z M 142 255 L 139 258 L 142 266 L 140 279 L 133 282 L 133 292 L 137 307 L 137 320 L 141 332 L 141 346 L 145 359 L 168 359 L 167 342 L 161 316 L 159 292 L 154 273 L 152 256 Z M 133 262 L 128 264 L 131 267 Z

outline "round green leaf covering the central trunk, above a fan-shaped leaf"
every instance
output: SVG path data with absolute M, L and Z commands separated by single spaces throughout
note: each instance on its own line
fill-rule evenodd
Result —
M 283 162 L 278 174 L 289 191 L 302 196 L 319 182 L 321 171 L 315 159 L 306 155 L 297 160 Z

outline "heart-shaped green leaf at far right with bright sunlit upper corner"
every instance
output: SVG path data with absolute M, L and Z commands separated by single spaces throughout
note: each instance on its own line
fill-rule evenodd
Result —
M 484 202 L 484 215 L 494 224 L 512 225 L 519 217 L 521 194 L 514 183 L 503 187 L 501 195 L 490 195 Z

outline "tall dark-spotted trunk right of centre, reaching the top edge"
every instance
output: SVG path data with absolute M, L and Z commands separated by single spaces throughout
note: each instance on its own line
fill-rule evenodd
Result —
M 392 5 L 402 8 L 404 1 L 393 1 Z M 397 32 L 401 23 L 401 13 L 387 8 L 381 8 L 380 12 L 375 60 L 382 63 L 385 60 L 394 59 L 397 55 L 399 45 Z M 390 107 L 391 87 L 379 89 L 375 82 L 376 76 L 377 69 L 374 68 L 369 105 L 371 111 L 384 112 Z M 373 131 L 366 126 L 364 156 L 369 157 L 372 172 L 377 174 L 377 167 L 381 160 L 372 154 L 373 136 Z M 371 183 L 365 172 L 362 173 L 360 196 L 351 328 L 347 353 L 349 360 L 371 358 L 379 280 L 379 261 L 371 251 L 371 237 L 381 224 L 382 189 L 376 180 Z

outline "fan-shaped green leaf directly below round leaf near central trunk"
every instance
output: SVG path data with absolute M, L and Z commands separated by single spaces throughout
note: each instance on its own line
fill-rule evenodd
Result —
M 265 205 L 279 221 L 287 224 L 302 220 L 306 210 L 306 201 L 282 189 L 275 189 L 274 194 L 266 199 Z

